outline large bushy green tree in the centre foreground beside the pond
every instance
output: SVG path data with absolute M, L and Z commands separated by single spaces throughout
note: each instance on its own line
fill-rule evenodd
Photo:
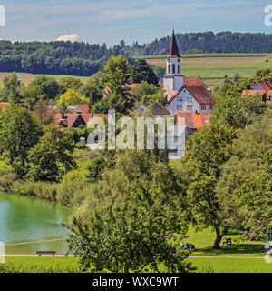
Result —
M 187 230 L 178 177 L 149 151 L 118 154 L 74 215 L 69 248 L 85 270 L 189 272 L 176 233 Z M 184 197 L 183 197 L 184 198 Z

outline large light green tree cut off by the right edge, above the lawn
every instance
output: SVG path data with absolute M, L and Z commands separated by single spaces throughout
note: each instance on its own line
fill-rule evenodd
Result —
M 231 227 L 266 238 L 272 220 L 272 115 L 268 111 L 241 133 L 222 167 L 217 196 Z

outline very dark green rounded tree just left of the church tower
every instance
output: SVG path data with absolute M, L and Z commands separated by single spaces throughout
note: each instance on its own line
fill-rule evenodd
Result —
M 141 81 L 146 81 L 153 85 L 158 84 L 157 75 L 155 75 L 145 59 L 137 60 L 131 68 L 131 83 L 141 83 Z

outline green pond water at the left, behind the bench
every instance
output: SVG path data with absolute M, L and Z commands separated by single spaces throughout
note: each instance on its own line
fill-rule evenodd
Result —
M 0 241 L 6 254 L 35 254 L 37 250 L 67 251 L 62 226 L 69 210 L 32 197 L 0 194 Z

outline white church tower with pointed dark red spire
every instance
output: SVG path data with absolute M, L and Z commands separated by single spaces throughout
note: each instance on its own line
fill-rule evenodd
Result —
M 163 88 L 166 91 L 178 91 L 183 84 L 184 76 L 181 75 L 180 53 L 173 30 L 166 59 L 166 75 L 163 77 Z

